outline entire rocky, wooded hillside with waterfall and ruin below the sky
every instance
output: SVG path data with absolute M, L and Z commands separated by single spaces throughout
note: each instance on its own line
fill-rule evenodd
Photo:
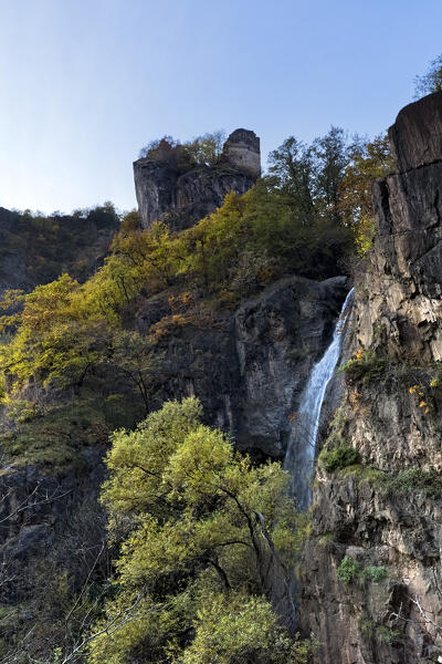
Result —
M 438 661 L 441 117 L 158 142 L 112 241 L 3 212 L 6 662 Z

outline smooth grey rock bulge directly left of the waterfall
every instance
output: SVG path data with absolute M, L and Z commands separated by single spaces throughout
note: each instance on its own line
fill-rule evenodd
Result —
M 240 448 L 284 457 L 306 380 L 330 342 L 348 290 L 345 277 L 288 277 L 236 312 Z

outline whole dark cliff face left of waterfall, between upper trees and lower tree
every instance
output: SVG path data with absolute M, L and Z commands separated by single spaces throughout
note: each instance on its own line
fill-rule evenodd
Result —
M 288 277 L 236 312 L 175 328 L 158 343 L 162 381 L 152 400 L 196 394 L 211 425 L 229 430 L 239 448 L 282 458 L 301 392 L 324 353 L 348 280 Z M 141 333 L 169 313 L 167 301 L 143 303 Z

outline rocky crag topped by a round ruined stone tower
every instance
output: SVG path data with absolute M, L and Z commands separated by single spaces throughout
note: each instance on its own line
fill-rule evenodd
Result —
M 167 146 L 166 146 L 167 147 Z M 215 166 L 182 169 L 177 148 L 156 151 L 134 163 L 135 190 L 143 228 L 164 218 L 172 230 L 189 228 L 220 207 L 230 191 L 242 195 L 261 173 L 260 138 L 236 129 Z

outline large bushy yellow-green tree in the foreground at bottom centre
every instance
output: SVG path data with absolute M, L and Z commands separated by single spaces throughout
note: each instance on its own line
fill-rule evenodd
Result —
M 307 661 L 269 601 L 272 566 L 288 583 L 299 549 L 287 475 L 253 466 L 200 418 L 190 397 L 113 436 L 102 499 L 125 536 L 93 664 Z

